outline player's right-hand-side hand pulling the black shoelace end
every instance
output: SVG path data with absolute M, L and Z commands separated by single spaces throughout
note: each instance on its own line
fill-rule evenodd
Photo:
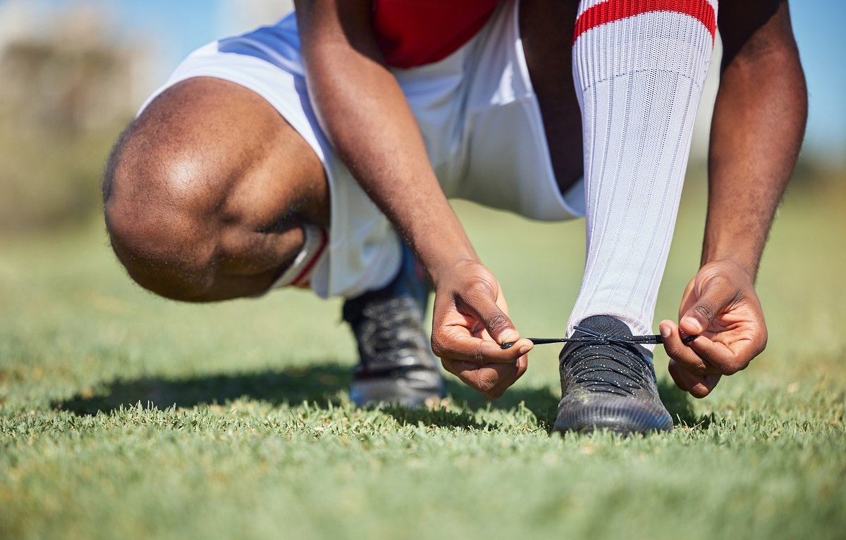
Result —
M 672 320 L 659 324 L 669 371 L 676 385 L 695 397 L 711 393 L 722 375 L 746 368 L 766 346 L 766 325 L 752 277 L 737 263 L 703 266 L 684 290 Z M 699 334 L 683 343 L 684 335 Z

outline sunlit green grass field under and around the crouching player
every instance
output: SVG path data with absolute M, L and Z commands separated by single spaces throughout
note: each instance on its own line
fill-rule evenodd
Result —
M 695 273 L 685 193 L 657 317 Z M 134 286 L 102 226 L 0 238 L 0 538 L 842 538 L 846 188 L 788 195 L 759 288 L 766 352 L 671 434 L 550 434 L 558 349 L 498 401 L 359 410 L 340 304 Z M 562 332 L 583 226 L 459 205 L 524 335 Z M 517 259 L 512 248 L 528 248 Z

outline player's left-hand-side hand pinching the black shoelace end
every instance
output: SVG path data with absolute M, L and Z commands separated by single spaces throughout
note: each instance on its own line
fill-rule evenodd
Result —
M 528 367 L 534 344 L 519 339 L 497 278 L 465 261 L 435 284 L 431 349 L 443 368 L 491 399 L 503 395 Z M 500 345 L 515 341 L 503 350 Z

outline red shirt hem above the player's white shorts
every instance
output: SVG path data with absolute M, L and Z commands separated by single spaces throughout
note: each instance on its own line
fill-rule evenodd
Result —
M 470 41 L 498 0 L 373 0 L 373 29 L 387 65 L 413 68 Z

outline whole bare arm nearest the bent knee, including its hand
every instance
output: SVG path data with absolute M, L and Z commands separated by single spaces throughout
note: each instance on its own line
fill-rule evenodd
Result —
M 525 358 L 515 361 L 531 342 L 505 351 L 497 345 L 519 334 L 503 313 L 496 278 L 481 265 L 437 182 L 408 101 L 384 63 L 371 27 L 371 1 L 312 0 L 297 2 L 296 9 L 321 128 L 435 283 L 436 354 L 466 384 L 501 394 L 525 371 Z M 511 367 L 482 369 L 505 363 Z

